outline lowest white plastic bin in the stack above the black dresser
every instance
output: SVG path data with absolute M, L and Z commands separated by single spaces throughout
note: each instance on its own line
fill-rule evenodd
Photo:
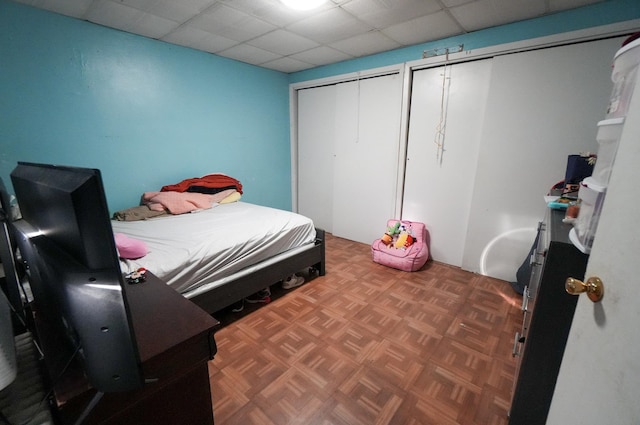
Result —
M 596 183 L 593 177 L 587 177 L 580 183 L 580 213 L 569 237 L 582 252 L 591 251 L 606 190 L 606 186 Z

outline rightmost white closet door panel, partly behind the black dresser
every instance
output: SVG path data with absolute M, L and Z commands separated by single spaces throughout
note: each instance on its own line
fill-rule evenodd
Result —
M 567 156 L 597 150 L 621 39 L 494 58 L 462 267 L 514 280 Z

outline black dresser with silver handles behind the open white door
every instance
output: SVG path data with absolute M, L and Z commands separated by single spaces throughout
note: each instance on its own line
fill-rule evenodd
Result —
M 531 256 L 531 276 L 522 300 L 522 330 L 515 335 L 517 357 L 510 425 L 544 425 L 562 363 L 578 297 L 565 291 L 565 280 L 582 280 L 588 255 L 570 241 L 572 226 L 563 210 L 548 209 L 538 227 Z

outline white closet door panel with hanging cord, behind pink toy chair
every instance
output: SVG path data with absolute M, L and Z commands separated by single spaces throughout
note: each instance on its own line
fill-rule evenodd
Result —
M 485 59 L 413 73 L 402 217 L 425 223 L 433 259 L 455 266 L 462 264 L 491 69 Z

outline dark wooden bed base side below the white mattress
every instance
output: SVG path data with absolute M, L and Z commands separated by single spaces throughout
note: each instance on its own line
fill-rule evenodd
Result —
M 319 276 L 325 274 L 325 239 L 322 229 L 316 229 L 313 248 L 230 280 L 224 285 L 189 299 L 206 312 L 213 314 L 307 267 L 313 269 Z

